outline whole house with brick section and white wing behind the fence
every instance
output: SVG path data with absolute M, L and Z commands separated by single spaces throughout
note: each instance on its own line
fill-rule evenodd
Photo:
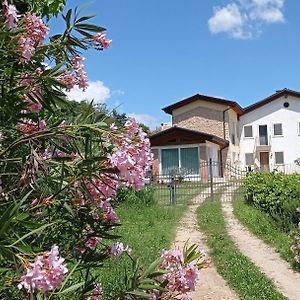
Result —
M 242 108 L 236 101 L 196 94 L 163 108 L 172 126 L 150 137 L 153 174 L 173 170 L 223 176 L 225 166 L 298 171 L 300 92 L 289 89 Z

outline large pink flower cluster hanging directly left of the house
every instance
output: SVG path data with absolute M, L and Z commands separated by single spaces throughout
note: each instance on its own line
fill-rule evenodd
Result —
M 114 152 L 108 154 L 108 160 L 119 170 L 119 178 L 127 186 L 139 190 L 144 185 L 144 177 L 152 163 L 150 141 L 135 119 L 129 119 L 125 128 L 125 135 L 108 138 L 116 145 Z

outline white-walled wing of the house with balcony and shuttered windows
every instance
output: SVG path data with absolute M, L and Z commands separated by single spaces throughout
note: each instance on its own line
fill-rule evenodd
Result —
M 300 157 L 300 93 L 288 89 L 244 108 L 239 118 L 242 165 L 297 171 Z

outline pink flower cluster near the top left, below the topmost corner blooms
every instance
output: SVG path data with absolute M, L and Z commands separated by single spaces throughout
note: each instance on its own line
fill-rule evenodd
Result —
M 43 20 L 34 14 L 24 17 L 25 32 L 19 39 L 18 52 L 21 55 L 20 63 L 24 64 L 31 60 L 36 47 L 41 46 L 46 38 L 49 28 Z

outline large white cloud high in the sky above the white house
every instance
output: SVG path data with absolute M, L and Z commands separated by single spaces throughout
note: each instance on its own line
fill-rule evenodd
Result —
M 261 33 L 264 24 L 284 22 L 285 0 L 231 0 L 214 7 L 208 20 L 211 33 L 226 33 L 236 39 L 249 39 Z

